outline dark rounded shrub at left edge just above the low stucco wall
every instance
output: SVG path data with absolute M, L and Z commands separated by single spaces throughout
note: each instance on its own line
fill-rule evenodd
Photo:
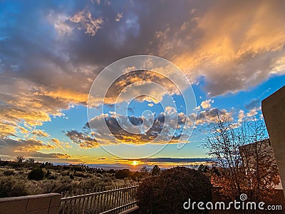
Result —
M 14 178 L 2 178 L 0 180 L 0 198 L 28 195 L 25 183 Z

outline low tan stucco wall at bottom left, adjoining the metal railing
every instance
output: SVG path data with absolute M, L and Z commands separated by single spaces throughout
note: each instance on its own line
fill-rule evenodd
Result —
M 0 198 L 0 213 L 58 214 L 60 204 L 61 195 L 57 193 Z

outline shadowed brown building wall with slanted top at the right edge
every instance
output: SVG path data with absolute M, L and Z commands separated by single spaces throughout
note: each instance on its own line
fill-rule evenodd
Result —
M 285 186 L 285 86 L 262 101 L 262 113 L 271 146 Z

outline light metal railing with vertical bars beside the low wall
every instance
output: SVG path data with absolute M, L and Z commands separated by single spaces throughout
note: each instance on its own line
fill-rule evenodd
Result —
M 138 183 L 62 193 L 60 213 L 121 213 L 136 206 Z

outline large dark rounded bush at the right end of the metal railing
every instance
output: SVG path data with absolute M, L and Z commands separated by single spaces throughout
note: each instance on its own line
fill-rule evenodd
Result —
M 183 204 L 189 198 L 192 202 L 212 200 L 212 185 L 204 173 L 176 167 L 144 180 L 137 198 L 140 213 L 186 213 Z M 199 213 L 201 210 L 189 211 Z

